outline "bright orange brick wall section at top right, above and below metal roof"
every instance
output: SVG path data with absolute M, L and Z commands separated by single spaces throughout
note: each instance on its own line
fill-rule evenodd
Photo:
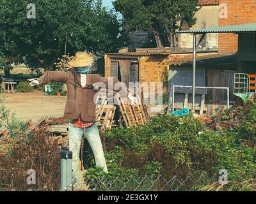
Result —
M 256 0 L 219 0 L 219 3 L 228 6 L 228 18 L 220 19 L 219 26 L 256 22 Z M 237 47 L 237 34 L 219 34 L 219 52 L 235 53 Z

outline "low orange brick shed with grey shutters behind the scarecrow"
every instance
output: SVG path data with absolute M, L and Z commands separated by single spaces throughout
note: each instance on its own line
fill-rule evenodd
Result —
M 114 77 L 129 85 L 129 82 L 153 82 L 157 90 L 157 82 L 163 82 L 164 70 L 170 65 L 182 64 L 192 59 L 191 50 L 170 48 L 137 48 L 136 52 L 120 50 L 118 53 L 105 55 L 105 77 Z M 216 56 L 216 52 L 198 53 L 197 57 Z

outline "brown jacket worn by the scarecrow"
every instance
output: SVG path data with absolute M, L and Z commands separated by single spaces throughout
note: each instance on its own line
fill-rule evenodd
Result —
M 73 69 L 70 71 L 47 71 L 42 77 L 38 78 L 39 85 L 48 84 L 51 81 L 63 82 L 67 84 L 67 103 L 65 106 L 64 116 L 68 119 L 77 119 L 81 115 L 81 119 L 85 122 L 95 122 L 95 108 L 93 101 L 94 95 L 99 90 L 93 89 L 93 84 L 103 82 L 106 88 L 118 83 L 118 80 L 112 80 L 113 84 L 109 84 L 109 78 L 100 77 L 99 75 L 86 75 L 86 86 L 81 85 L 81 77 L 77 75 L 77 88 L 75 94 Z M 120 89 L 116 90 L 120 91 Z

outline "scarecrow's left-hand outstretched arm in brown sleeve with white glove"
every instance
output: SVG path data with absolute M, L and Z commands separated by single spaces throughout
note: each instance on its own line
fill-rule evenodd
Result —
M 68 80 L 68 72 L 65 71 L 47 71 L 42 77 L 30 80 L 30 85 L 44 85 L 49 82 L 63 82 Z

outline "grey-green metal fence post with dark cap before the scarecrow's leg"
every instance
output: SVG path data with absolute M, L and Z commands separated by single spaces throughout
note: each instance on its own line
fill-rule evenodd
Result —
M 61 151 L 60 189 L 72 191 L 72 152 Z

